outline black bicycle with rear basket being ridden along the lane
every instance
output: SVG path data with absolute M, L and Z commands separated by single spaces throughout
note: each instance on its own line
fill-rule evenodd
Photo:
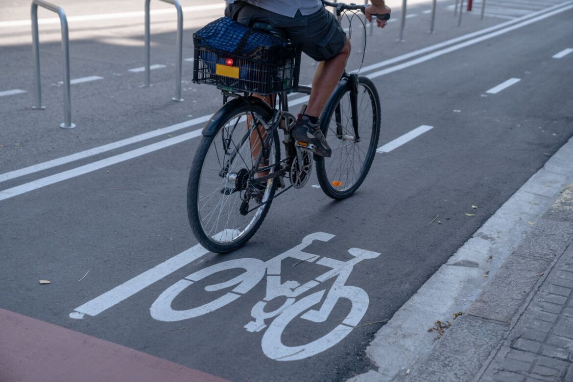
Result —
M 364 5 L 324 4 L 336 7 L 339 22 L 343 16 L 351 20 L 366 9 Z M 379 15 L 379 19 L 389 18 L 389 14 Z M 366 29 L 364 22 L 363 26 Z M 258 25 L 258 29 L 282 33 L 269 25 Z M 198 52 L 196 46 L 194 82 L 201 82 L 197 73 L 202 70 L 201 60 L 207 60 L 206 54 Z M 237 79 L 235 82 L 250 73 L 249 62 L 242 58 L 220 60 L 203 65 L 203 70 L 210 72 L 216 66 L 221 78 Z M 293 65 L 297 62 L 300 66 L 300 51 Z M 370 170 L 380 135 L 380 100 L 374 83 L 358 73 L 344 71 L 320 117 L 321 129 L 332 149 L 332 156 L 324 158 L 313 156 L 312 147 L 292 140 L 296 117 L 288 107 L 291 89 L 282 90 L 281 84 L 293 76 L 292 93 L 311 93 L 311 87 L 297 86 L 297 72 L 292 69 L 284 69 L 281 73 L 286 78 L 274 82 L 274 74 L 258 75 L 258 84 L 270 81 L 273 85 L 266 90 L 262 90 L 265 86 L 257 87 L 258 94 L 276 94 L 269 98 L 271 105 L 254 97 L 253 89 L 242 95 L 244 90 L 233 87 L 232 81 L 223 81 L 223 85 L 218 82 L 224 104 L 203 129 L 187 186 L 191 229 L 211 252 L 231 252 L 244 245 L 262 224 L 275 197 L 290 188 L 303 188 L 308 182 L 313 160 L 320 188 L 334 199 L 351 196 Z M 282 130 L 284 157 L 278 130 Z M 277 188 L 282 190 L 277 193 Z

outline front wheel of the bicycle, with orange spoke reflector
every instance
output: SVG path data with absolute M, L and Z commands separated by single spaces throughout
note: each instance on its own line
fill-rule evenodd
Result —
M 324 119 L 324 116 L 328 116 Z M 332 149 L 330 158 L 316 156 L 316 174 L 324 193 L 334 199 L 351 196 L 362 184 L 376 154 L 380 136 L 380 98 L 374 83 L 358 79 L 352 122 L 351 88 L 339 87 L 323 113 L 322 129 Z

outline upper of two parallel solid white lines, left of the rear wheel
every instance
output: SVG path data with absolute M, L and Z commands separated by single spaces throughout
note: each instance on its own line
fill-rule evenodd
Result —
M 37 165 L 28 166 L 28 167 L 25 167 L 23 169 L 14 170 L 14 171 L 10 171 L 10 172 L 4 173 L 4 174 L 0 174 L 0 182 L 10 180 L 13 178 L 17 178 L 17 177 L 21 177 L 24 175 L 32 174 L 32 173 L 35 173 L 38 171 L 50 169 L 50 168 L 53 168 L 56 166 L 64 165 L 64 164 L 69 163 L 69 162 L 73 162 L 73 161 L 81 160 L 84 158 L 92 157 L 92 156 L 95 156 L 97 154 L 101 154 L 101 153 L 108 152 L 110 150 L 121 148 L 123 146 L 131 145 L 131 144 L 134 144 L 134 143 L 137 143 L 140 141 L 145 141 L 145 140 L 148 140 L 151 138 L 155 138 L 155 137 L 159 137 L 159 136 L 162 136 L 165 134 L 169 134 L 169 133 L 175 132 L 177 130 L 181 130 L 181 129 L 189 128 L 191 126 L 199 125 L 199 124 L 202 124 L 203 122 L 209 121 L 209 118 L 211 118 L 211 116 L 203 116 L 203 117 L 194 118 L 193 120 L 181 122 L 180 124 L 167 126 L 166 128 L 153 130 L 153 131 L 148 132 L 148 133 L 139 134 L 138 136 L 135 136 L 135 137 L 125 138 L 124 140 L 113 142 L 111 144 L 98 146 L 98 147 L 93 148 L 93 149 L 84 150 L 84 151 L 79 152 L 79 153 L 71 154 L 71 155 L 68 155 L 65 157 L 53 159 L 51 161 L 42 162 L 42 163 L 37 164 Z

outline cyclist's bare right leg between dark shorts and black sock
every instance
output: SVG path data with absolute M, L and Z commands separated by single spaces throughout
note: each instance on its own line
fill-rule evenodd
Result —
M 312 78 L 312 92 L 308 101 L 307 116 L 320 117 L 328 98 L 336 85 L 338 85 L 342 73 L 344 73 L 344 67 L 346 67 L 349 55 L 350 39 L 347 37 L 346 43 L 339 54 L 319 63 Z

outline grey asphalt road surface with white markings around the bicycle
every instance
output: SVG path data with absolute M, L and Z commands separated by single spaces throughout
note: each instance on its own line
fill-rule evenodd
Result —
M 84 79 L 72 85 L 77 127 L 64 130 L 55 14 L 40 11 L 46 109 L 32 110 L 29 5 L 0 1 L 0 308 L 223 379 L 345 380 L 372 368 L 364 349 L 384 320 L 573 136 L 570 2 L 523 21 L 466 13 L 461 27 L 452 2 L 439 2 L 433 35 L 429 4 L 417 3 L 405 41 L 395 41 L 399 22 L 368 36 L 365 66 L 383 62 L 363 71 L 382 100 L 379 146 L 395 145 L 376 154 L 358 192 L 332 201 L 313 175 L 304 190 L 274 200 L 244 248 L 210 253 L 190 232 L 186 182 L 199 132 L 222 98 L 191 83 L 184 61 L 185 101 L 170 100 L 175 14 L 160 2 L 151 26 L 151 63 L 160 67 L 143 87 L 134 70 L 143 66 L 143 7 L 114 4 L 61 3 L 72 78 Z M 223 6 L 183 6 L 190 58 L 193 32 Z M 364 38 L 353 34 L 349 69 L 359 66 Z M 302 83 L 314 67 L 303 60 Z M 412 130 L 420 133 L 401 138 Z M 356 258 L 346 279 L 324 276 L 328 259 Z M 249 259 L 269 266 L 248 277 L 249 288 L 209 288 L 245 272 L 237 264 L 263 266 Z M 211 274 L 213 265 L 220 272 Z M 189 277 L 202 269 L 205 278 Z M 281 291 L 312 280 L 288 314 L 272 314 L 290 301 Z M 344 285 L 356 287 L 352 299 Z M 354 322 L 358 308 L 366 312 Z

